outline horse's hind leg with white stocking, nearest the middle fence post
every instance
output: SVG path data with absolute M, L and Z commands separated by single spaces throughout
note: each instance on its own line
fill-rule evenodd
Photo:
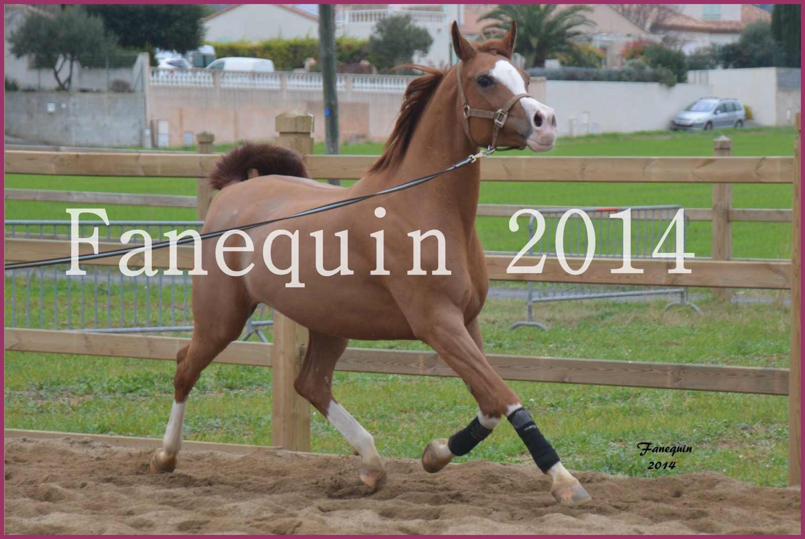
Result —
M 386 475 L 383 463 L 374 446 L 374 438 L 338 401 L 332 398 L 332 372 L 349 339 L 309 331 L 310 342 L 304 362 L 296 377 L 296 393 L 306 398 L 338 429 L 358 455 L 361 455 L 359 474 L 367 487 L 378 488 Z

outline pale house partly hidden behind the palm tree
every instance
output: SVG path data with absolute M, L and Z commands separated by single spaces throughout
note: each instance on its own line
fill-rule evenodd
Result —
M 481 19 L 496 6 L 497 4 L 464 4 L 461 33 L 469 39 L 478 39 L 483 28 L 492 22 Z M 594 4 L 589 7 L 592 11 L 585 16 L 593 25 L 579 27 L 579 30 L 584 32 L 585 38 L 593 47 L 605 52 L 605 67 L 622 64 L 621 51 L 626 43 L 634 39 L 659 39 L 609 4 Z

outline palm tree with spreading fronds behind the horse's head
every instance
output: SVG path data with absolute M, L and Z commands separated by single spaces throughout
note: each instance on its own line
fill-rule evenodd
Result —
M 514 51 L 526 58 L 526 65 L 541 67 L 546 58 L 555 58 L 562 52 L 571 52 L 576 45 L 573 38 L 583 35 L 582 26 L 594 26 L 584 16 L 592 8 L 584 5 L 559 8 L 555 4 L 501 4 L 481 17 L 494 23 L 484 31 L 506 32 L 511 21 L 517 22 L 517 45 Z

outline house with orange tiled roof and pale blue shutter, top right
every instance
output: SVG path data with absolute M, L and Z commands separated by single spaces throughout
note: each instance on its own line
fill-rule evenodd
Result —
M 682 51 L 691 54 L 700 47 L 734 43 L 746 25 L 757 21 L 771 21 L 771 14 L 751 4 L 683 4 L 679 13 L 656 26 L 675 32 L 683 43 Z

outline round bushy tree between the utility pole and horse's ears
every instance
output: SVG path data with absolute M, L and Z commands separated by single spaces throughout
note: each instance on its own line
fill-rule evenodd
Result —
M 432 44 L 431 35 L 416 26 L 411 15 L 390 15 L 374 25 L 374 33 L 369 37 L 369 61 L 387 71 L 410 64 L 415 52 L 427 54 Z

